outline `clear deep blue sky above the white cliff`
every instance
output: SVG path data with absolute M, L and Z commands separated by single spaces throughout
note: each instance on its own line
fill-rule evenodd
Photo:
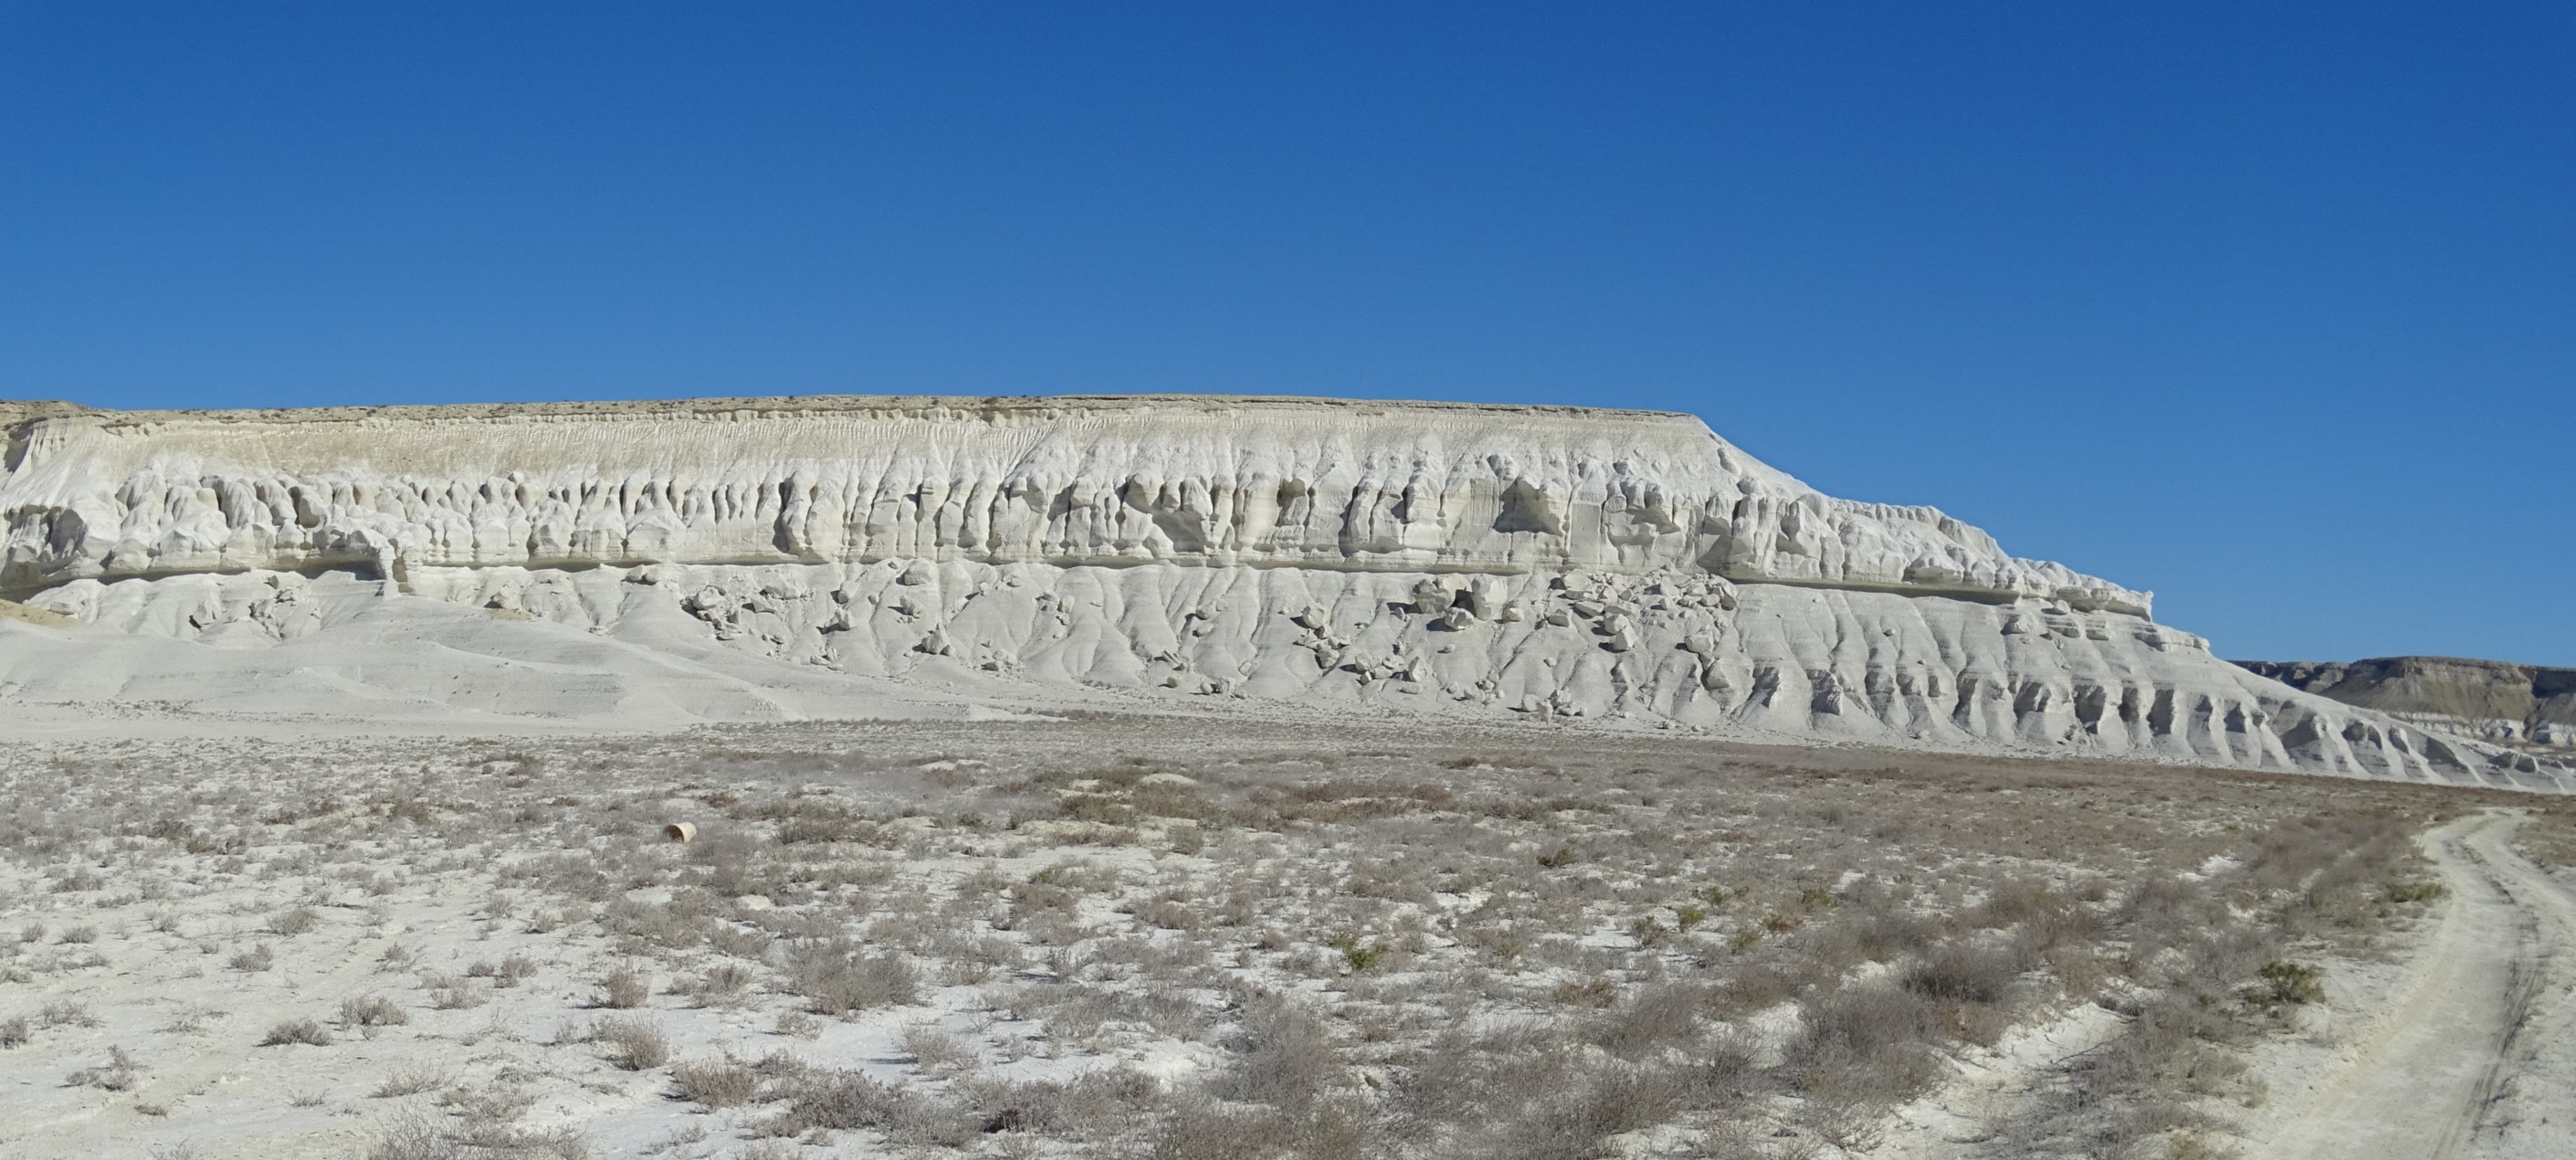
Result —
M 0 394 L 1690 410 L 2576 665 L 2576 5 L 0 3 Z

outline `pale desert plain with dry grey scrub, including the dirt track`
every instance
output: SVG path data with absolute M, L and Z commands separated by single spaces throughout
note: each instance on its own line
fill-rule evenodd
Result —
M 5 1155 L 2576 1155 L 2553 797 L 1293 711 L 131 711 L 0 755 Z

